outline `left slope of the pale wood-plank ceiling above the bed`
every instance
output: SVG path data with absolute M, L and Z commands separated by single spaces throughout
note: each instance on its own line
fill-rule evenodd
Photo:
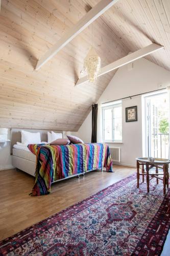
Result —
M 91 45 L 91 27 L 38 72 L 34 67 L 37 59 L 86 13 L 86 3 L 82 1 L 2 1 L 1 126 L 78 130 L 91 104 L 98 100 L 114 74 L 100 78 L 94 86 L 86 83 L 83 88 L 74 88 Z M 120 46 L 114 53 L 118 43 L 102 19 L 95 21 L 93 30 L 102 65 L 128 51 Z

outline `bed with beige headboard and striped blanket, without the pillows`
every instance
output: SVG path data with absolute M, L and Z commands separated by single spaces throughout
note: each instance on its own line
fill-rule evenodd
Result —
M 47 131 L 39 132 L 41 141 L 46 141 Z M 79 176 L 91 170 L 102 170 L 103 166 L 107 172 L 113 172 L 109 147 L 105 143 L 62 146 L 30 144 L 23 148 L 16 145 L 16 141 L 21 141 L 20 130 L 16 129 L 12 129 L 11 141 L 13 166 L 32 176 L 35 174 L 32 196 L 49 194 L 53 182 Z

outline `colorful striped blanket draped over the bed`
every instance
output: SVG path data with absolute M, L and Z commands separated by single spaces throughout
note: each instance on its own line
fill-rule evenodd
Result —
M 105 143 L 70 144 L 65 146 L 29 144 L 36 155 L 35 184 L 32 196 L 47 195 L 51 183 L 87 170 L 102 169 L 113 172 L 109 146 Z

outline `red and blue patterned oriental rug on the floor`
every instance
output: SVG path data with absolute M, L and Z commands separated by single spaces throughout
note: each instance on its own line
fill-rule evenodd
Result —
M 136 175 L 0 242 L 0 255 L 160 255 L 170 226 L 170 190 Z

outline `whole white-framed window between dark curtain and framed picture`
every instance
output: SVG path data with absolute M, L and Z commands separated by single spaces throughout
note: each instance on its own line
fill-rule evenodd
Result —
M 122 142 L 122 101 L 102 108 L 103 138 L 107 142 Z

